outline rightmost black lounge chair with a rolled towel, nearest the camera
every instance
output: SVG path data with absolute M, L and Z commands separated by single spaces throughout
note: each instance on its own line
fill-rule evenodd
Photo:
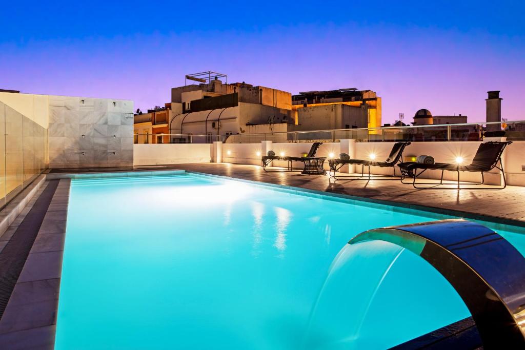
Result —
M 505 179 L 505 172 L 503 171 L 503 163 L 501 162 L 501 155 L 503 154 L 503 150 L 505 150 L 505 147 L 507 145 L 511 144 L 512 141 L 506 141 L 506 142 L 497 142 L 497 141 L 489 141 L 485 142 L 479 145 L 478 151 L 476 152 L 476 155 L 474 156 L 474 159 L 472 160 L 472 163 L 469 165 L 459 165 L 459 164 L 449 164 L 449 163 L 434 163 L 434 164 L 420 164 L 420 163 L 414 163 L 414 162 L 407 162 L 407 163 L 401 163 L 399 164 L 399 167 L 401 169 L 401 182 L 403 182 L 403 179 L 409 177 L 412 178 L 412 185 L 415 188 L 451 188 L 451 187 L 438 187 L 439 185 L 443 185 L 443 173 L 445 170 L 451 171 L 451 172 L 457 172 L 458 179 L 457 179 L 457 188 L 452 187 L 452 189 L 503 189 L 507 187 L 507 181 Z M 499 166 L 498 166 L 499 163 Z M 484 173 L 487 173 L 491 171 L 493 168 L 497 168 L 500 173 L 503 175 L 503 187 L 460 187 L 459 183 L 459 172 L 474 172 L 474 173 L 481 173 L 481 182 L 479 183 L 467 183 L 469 185 L 483 185 L 485 183 L 485 177 Z M 441 171 L 441 179 L 439 181 L 439 184 L 436 183 L 417 183 L 416 184 L 416 178 L 419 177 L 421 174 L 423 174 L 428 169 L 431 170 L 440 170 Z M 419 173 L 418 170 L 421 170 Z M 406 182 L 403 182 L 404 184 L 408 184 Z M 419 186 L 416 185 L 434 185 L 434 186 Z M 436 186 L 437 185 L 437 186 Z

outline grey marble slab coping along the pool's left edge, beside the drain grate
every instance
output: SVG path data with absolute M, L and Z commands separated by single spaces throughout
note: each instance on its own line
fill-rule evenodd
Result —
M 47 181 L 47 178 L 45 180 Z M 16 345 L 17 349 L 54 349 L 55 347 L 70 184 L 70 179 L 59 179 L 35 239 L 36 243 L 38 240 L 45 241 L 51 238 L 51 244 L 39 246 L 33 243 L 16 281 L 15 289 L 9 297 L 0 324 L 20 322 L 28 323 L 30 326 L 1 333 L 0 340 L 6 346 Z M 43 239 L 43 236 L 47 236 L 46 239 Z M 18 303 L 15 304 L 17 300 Z M 24 301 L 23 304 L 19 304 L 20 300 Z M 28 313 L 20 315 L 10 311 L 20 306 L 26 306 L 29 309 Z M 6 314 L 7 318 L 5 318 Z M 35 317 L 35 314 L 38 317 Z

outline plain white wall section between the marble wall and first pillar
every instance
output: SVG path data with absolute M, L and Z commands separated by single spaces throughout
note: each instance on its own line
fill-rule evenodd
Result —
M 133 165 L 209 163 L 212 144 L 134 144 Z

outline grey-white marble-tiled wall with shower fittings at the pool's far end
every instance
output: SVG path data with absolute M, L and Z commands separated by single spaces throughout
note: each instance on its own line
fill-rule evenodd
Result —
M 132 166 L 133 101 L 50 96 L 48 140 L 50 168 Z

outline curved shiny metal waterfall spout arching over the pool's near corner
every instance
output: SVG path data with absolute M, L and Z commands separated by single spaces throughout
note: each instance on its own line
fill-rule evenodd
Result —
M 367 240 L 394 243 L 432 264 L 467 305 L 485 348 L 525 347 L 525 258 L 496 232 L 442 220 L 369 230 L 348 243 Z

